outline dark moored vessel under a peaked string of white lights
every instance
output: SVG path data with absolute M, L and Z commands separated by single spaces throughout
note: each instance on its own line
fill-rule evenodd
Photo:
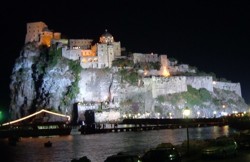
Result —
M 52 116 L 53 115 L 53 116 Z M 29 116 L 0 126 L 0 138 L 70 135 L 70 117 L 48 110 L 40 110 Z

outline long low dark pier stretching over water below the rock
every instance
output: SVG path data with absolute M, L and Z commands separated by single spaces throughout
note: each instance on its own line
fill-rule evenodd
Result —
M 81 134 L 148 131 L 160 129 L 179 129 L 186 127 L 224 126 L 224 118 L 197 119 L 124 119 L 120 123 L 93 123 L 81 126 Z

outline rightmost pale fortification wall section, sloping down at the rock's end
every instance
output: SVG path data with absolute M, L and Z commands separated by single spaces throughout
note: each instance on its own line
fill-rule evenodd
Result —
M 233 91 L 241 97 L 241 86 L 240 83 L 228 83 L 228 82 L 213 82 L 213 87 L 228 91 Z

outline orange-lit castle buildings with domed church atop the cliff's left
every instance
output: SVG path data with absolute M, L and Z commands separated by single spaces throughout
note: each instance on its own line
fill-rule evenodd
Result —
M 52 32 L 44 22 L 27 23 L 25 43 L 38 42 L 50 47 L 62 46 L 62 56 L 70 60 L 79 60 L 82 68 L 111 68 L 112 61 L 121 56 L 121 44 L 115 42 L 106 30 L 99 43 L 92 45 L 91 39 L 61 39 L 61 33 Z

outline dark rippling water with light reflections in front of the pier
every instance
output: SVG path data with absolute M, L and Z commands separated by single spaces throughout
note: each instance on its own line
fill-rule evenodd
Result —
M 190 139 L 210 139 L 233 133 L 228 126 L 189 128 Z M 162 142 L 181 144 L 186 140 L 186 128 L 144 132 L 121 132 L 61 137 L 22 138 L 17 146 L 6 145 L 17 162 L 70 162 L 87 156 L 91 162 L 103 162 L 107 156 L 120 151 L 142 154 Z M 53 145 L 45 148 L 50 140 Z M 7 140 L 5 141 L 7 143 Z

